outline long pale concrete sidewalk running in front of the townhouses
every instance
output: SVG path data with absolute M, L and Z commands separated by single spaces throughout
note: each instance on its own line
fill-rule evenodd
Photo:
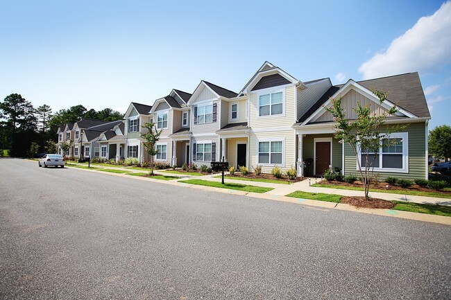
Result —
M 74 164 L 74 163 L 70 163 Z M 83 166 L 86 166 L 86 164 L 82 164 Z M 130 173 L 146 173 L 145 170 L 133 170 L 129 167 L 119 168 L 119 167 L 109 167 L 109 166 L 96 166 L 93 164 L 92 166 L 98 167 L 98 168 L 108 168 L 108 169 L 116 169 L 116 170 L 128 170 Z M 69 166 L 70 167 L 70 166 Z M 154 173 L 160 174 L 160 175 L 167 175 L 167 176 L 173 176 L 173 177 L 180 177 L 180 179 L 174 179 L 174 181 L 178 182 L 179 180 L 186 180 L 186 179 L 202 179 L 202 180 L 208 180 L 212 182 L 221 182 L 221 177 L 218 177 L 219 174 L 212 174 L 212 175 L 204 175 L 204 176 L 194 176 L 194 175 L 185 175 L 185 174 L 176 174 L 176 173 L 170 173 L 165 172 L 164 170 L 154 170 Z M 293 184 L 273 184 L 273 183 L 267 183 L 267 182 L 251 182 L 251 181 L 245 181 L 245 180 L 238 180 L 238 179 L 225 179 L 226 183 L 234 183 L 234 184 L 247 184 L 252 186 L 262 186 L 266 188 L 273 188 L 272 191 L 268 191 L 264 194 L 267 195 L 273 195 L 273 196 L 285 196 L 289 193 L 293 193 L 294 191 L 304 191 L 309 193 L 325 193 L 325 194 L 336 194 L 336 195 L 343 195 L 343 196 L 361 196 L 363 195 L 363 191 L 352 191 L 352 190 L 341 190 L 337 188 L 321 188 L 317 186 L 310 186 L 315 184 L 316 182 L 320 182 L 321 179 L 318 178 L 306 178 L 302 182 L 296 182 Z M 416 195 L 401 195 L 401 194 L 393 194 L 393 193 L 376 193 L 376 192 L 370 192 L 369 195 L 371 197 L 383 199 L 383 200 L 397 200 L 397 201 L 404 201 L 404 202 L 415 202 L 415 203 L 422 203 L 422 204 L 439 204 L 443 206 L 451 206 L 451 199 L 450 198 L 439 198 L 439 197 L 425 197 L 425 196 L 416 196 Z

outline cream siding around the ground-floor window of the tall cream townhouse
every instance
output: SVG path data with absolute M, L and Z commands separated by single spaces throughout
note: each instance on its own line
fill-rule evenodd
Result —
M 282 165 L 280 168 L 286 171 L 291 168 L 291 165 L 296 168 L 296 138 L 294 136 L 293 130 L 287 131 L 277 131 L 277 132 L 253 132 L 249 136 L 249 153 L 248 157 L 250 161 L 248 162 L 248 168 L 253 170 L 255 166 L 258 165 L 258 141 L 266 141 L 271 139 L 271 141 L 280 140 L 283 141 L 283 155 L 282 155 Z M 271 173 L 273 166 L 262 166 L 263 173 Z

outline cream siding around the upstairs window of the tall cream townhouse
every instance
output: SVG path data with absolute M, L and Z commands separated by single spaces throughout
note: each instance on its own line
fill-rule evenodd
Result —
M 295 116 L 295 98 L 294 91 L 296 87 L 274 87 L 271 89 L 262 89 L 250 94 L 250 127 L 252 128 L 270 128 L 270 127 L 291 127 Z M 284 91 L 284 114 L 274 116 L 259 116 L 259 95 Z M 245 108 L 246 111 L 246 108 Z

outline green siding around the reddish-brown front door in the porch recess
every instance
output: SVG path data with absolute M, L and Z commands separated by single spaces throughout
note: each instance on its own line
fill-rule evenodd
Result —
M 342 145 L 339 143 L 337 139 L 334 139 L 333 134 L 307 134 L 303 137 L 303 161 L 305 159 L 315 159 L 314 154 L 314 139 L 318 138 L 326 138 L 331 137 L 332 138 L 332 168 L 342 168 Z M 304 169 L 304 175 L 305 176 L 313 176 L 314 172 L 314 162 L 312 161 L 311 166 L 306 166 Z

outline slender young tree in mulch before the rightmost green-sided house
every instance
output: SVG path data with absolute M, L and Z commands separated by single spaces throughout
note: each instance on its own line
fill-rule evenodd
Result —
M 373 90 L 373 94 L 379 98 L 380 104 L 386 100 L 387 94 L 382 91 Z M 350 120 L 341 106 L 341 100 L 341 96 L 332 99 L 332 106 L 325 107 L 325 109 L 332 114 L 335 122 L 335 138 L 339 139 L 340 143 L 348 143 L 355 154 L 365 198 L 368 200 L 369 187 L 374 174 L 374 162 L 377 157 L 370 153 L 376 152 L 381 146 L 386 147 L 394 143 L 393 139 L 389 139 L 389 135 L 402 130 L 405 126 L 385 125 L 386 117 L 393 116 L 398 112 L 398 107 L 395 105 L 388 112 L 375 116 L 370 105 L 361 106 L 360 103 L 357 103 L 357 107 L 353 108 L 357 118 Z

